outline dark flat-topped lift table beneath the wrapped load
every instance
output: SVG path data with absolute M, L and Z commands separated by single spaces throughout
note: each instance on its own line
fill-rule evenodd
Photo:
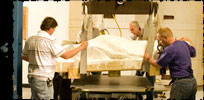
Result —
M 137 93 L 145 94 L 153 88 L 146 77 L 121 76 L 109 77 L 108 75 L 82 76 L 74 80 L 71 85 L 74 92 L 85 93 L 87 99 L 91 98 L 136 98 Z M 84 97 L 82 98 L 84 99 Z

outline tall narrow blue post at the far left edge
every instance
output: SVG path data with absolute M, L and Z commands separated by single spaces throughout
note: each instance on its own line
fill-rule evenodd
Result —
M 13 99 L 22 99 L 22 30 L 23 2 L 13 1 Z

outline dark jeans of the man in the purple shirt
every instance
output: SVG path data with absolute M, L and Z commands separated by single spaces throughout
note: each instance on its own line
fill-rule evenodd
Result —
M 195 78 L 175 80 L 170 91 L 170 99 L 194 99 L 197 92 Z

